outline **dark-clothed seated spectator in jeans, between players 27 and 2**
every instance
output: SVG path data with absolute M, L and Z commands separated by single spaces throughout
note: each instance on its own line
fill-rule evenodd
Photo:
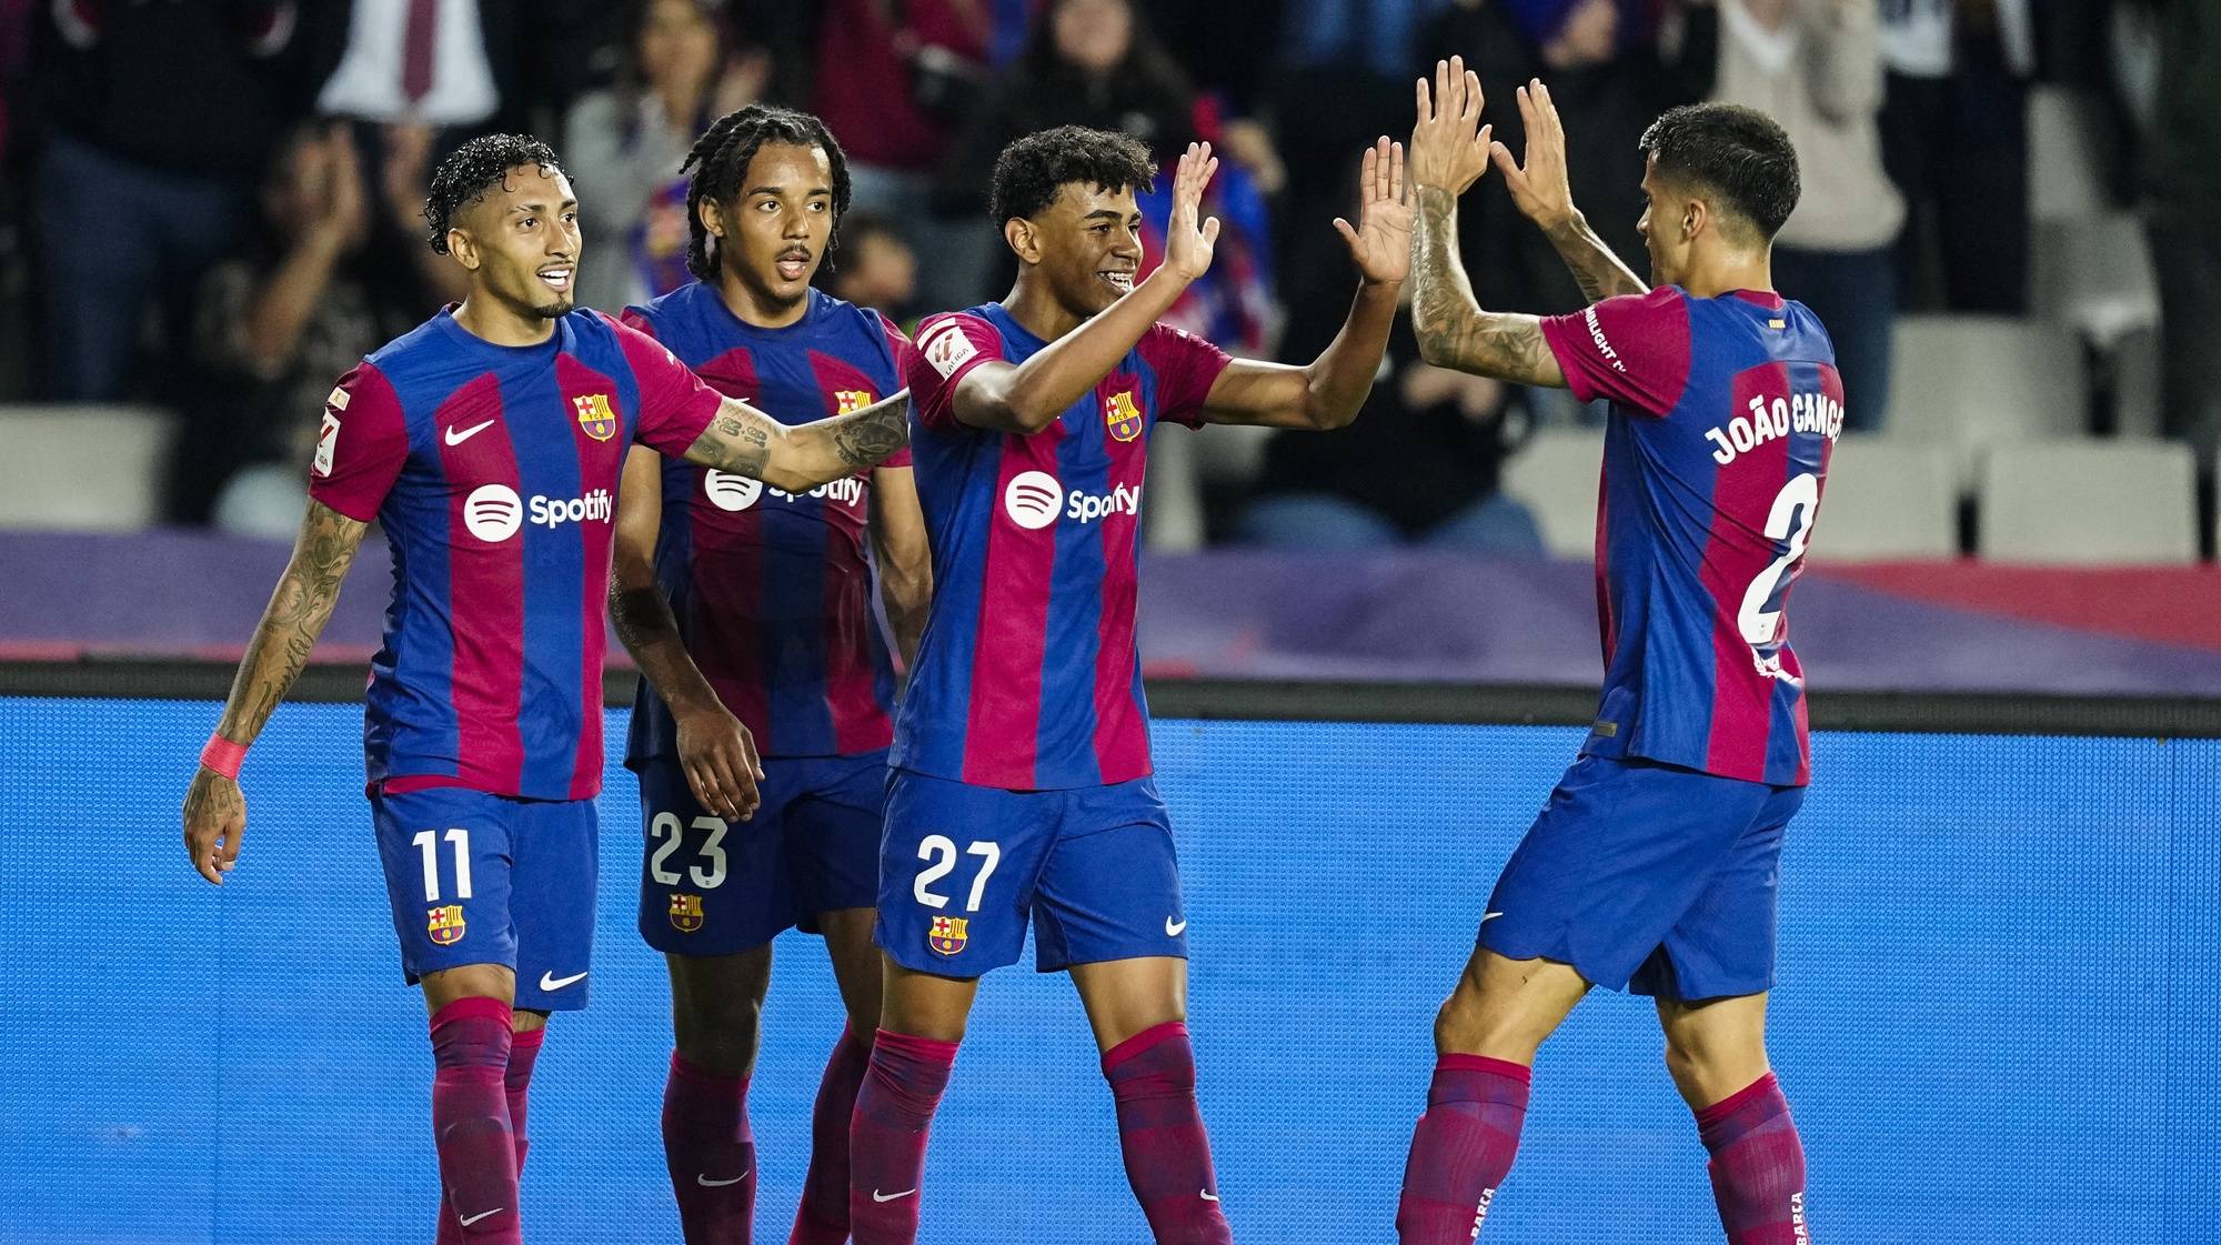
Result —
M 1421 362 L 1408 309 L 1384 367 L 1350 427 L 1273 436 L 1235 538 L 1302 551 L 1426 545 L 1541 556 L 1535 516 L 1497 491 L 1504 460 L 1532 427 L 1526 394 Z

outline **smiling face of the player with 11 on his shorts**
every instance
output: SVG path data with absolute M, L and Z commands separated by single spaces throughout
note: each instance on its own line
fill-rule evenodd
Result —
M 571 178 L 540 165 L 509 169 L 500 187 L 460 213 L 449 249 L 471 269 L 473 291 L 542 320 L 562 316 L 580 251 Z

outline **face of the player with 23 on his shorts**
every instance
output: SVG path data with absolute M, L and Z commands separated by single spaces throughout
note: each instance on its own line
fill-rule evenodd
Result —
M 808 293 L 833 236 L 833 162 L 820 147 L 766 142 L 733 202 L 702 205 L 702 227 L 717 236 L 717 267 L 748 302 L 788 309 Z

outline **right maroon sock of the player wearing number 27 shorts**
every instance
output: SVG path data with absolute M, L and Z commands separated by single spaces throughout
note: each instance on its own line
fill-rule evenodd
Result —
M 1210 1138 L 1195 1107 L 1195 1047 L 1168 1020 L 1104 1052 L 1117 1100 L 1117 1145 L 1126 1183 L 1157 1245 L 1233 1245 L 1210 1172 Z

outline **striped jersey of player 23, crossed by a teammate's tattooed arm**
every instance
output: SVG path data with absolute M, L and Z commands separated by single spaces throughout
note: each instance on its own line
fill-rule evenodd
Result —
M 908 338 L 822 291 L 802 320 L 757 329 L 689 282 L 624 322 L 713 389 L 786 425 L 868 407 L 902 389 Z M 906 467 L 908 449 L 882 467 Z M 686 651 L 764 756 L 853 756 L 895 734 L 895 665 L 873 614 L 864 540 L 871 471 L 786 494 L 746 476 L 664 462 L 655 580 Z M 677 756 L 677 725 L 640 680 L 626 765 Z

